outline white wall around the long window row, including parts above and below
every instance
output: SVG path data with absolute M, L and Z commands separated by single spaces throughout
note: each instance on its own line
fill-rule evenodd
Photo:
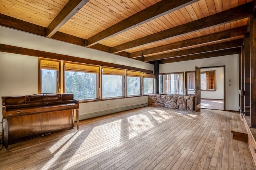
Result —
M 51 53 L 70 55 L 86 59 L 122 64 L 147 70 L 154 70 L 153 64 L 144 63 L 127 57 L 112 55 L 103 51 L 89 49 L 14 29 L 0 26 L 0 43 L 36 49 Z M 0 96 L 30 95 L 38 93 L 38 57 L 0 52 Z M 95 115 L 109 114 L 120 109 L 132 109 L 147 105 L 148 96 L 80 103 L 79 115 L 90 118 Z M 1 109 L 2 117 L 2 109 Z M 2 121 L 2 119 L 1 119 Z M 0 131 L 2 125 L 0 125 Z

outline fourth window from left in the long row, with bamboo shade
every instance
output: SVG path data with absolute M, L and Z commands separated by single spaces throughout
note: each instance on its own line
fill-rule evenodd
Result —
M 141 95 L 142 72 L 126 71 L 126 94 L 127 96 Z

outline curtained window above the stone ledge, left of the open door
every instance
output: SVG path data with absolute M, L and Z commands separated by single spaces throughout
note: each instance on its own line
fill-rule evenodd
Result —
M 171 73 L 159 76 L 160 93 L 183 94 L 183 73 Z

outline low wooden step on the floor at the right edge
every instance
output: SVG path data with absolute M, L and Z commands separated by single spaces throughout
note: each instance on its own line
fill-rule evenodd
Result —
M 243 121 L 231 120 L 230 125 L 231 133 L 233 133 L 233 139 L 245 142 L 248 141 L 248 133 Z

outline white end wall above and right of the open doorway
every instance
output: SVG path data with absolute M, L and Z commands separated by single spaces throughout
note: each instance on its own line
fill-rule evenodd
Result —
M 177 63 L 160 64 L 159 73 L 193 71 L 195 70 L 195 66 L 210 67 L 224 65 L 226 76 L 226 110 L 238 111 L 238 55 L 227 55 Z M 229 80 L 231 82 L 229 82 Z

